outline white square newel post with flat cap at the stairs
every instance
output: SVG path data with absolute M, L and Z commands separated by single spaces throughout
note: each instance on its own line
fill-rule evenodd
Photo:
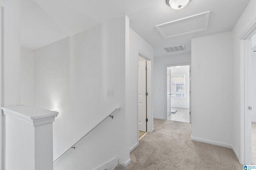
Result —
M 6 170 L 53 170 L 56 111 L 31 106 L 2 107 Z

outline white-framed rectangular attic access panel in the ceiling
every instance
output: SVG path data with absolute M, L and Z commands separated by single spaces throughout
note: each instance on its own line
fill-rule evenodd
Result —
M 156 28 L 164 39 L 203 31 L 208 27 L 209 15 L 210 11 L 207 11 L 179 20 L 156 25 Z

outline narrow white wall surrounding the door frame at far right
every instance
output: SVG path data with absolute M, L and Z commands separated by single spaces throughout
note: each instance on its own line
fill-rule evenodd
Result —
M 232 105 L 232 146 L 240 160 L 241 150 L 240 150 L 240 35 L 245 31 L 245 29 L 250 25 L 250 23 L 256 17 L 256 1 L 251 0 L 244 13 L 236 23 L 232 31 L 232 45 L 233 45 L 233 105 Z M 241 162 L 240 162 L 241 163 Z

